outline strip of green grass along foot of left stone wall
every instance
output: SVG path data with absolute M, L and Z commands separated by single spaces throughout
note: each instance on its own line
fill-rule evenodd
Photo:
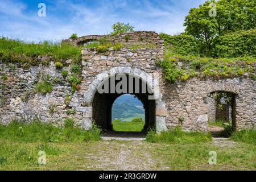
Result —
M 66 120 L 72 123 L 72 119 Z M 64 127 L 56 127 L 40 121 L 12 121 L 8 125 L 0 125 L 0 139 L 19 142 L 81 142 L 101 139 L 101 131 L 96 125 L 91 130 L 82 130 L 67 123 Z

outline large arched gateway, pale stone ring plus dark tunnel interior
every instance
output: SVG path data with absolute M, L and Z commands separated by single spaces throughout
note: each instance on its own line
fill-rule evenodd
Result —
M 92 119 L 102 129 L 112 130 L 113 102 L 122 94 L 134 94 L 145 109 L 144 130 L 166 130 L 165 117 L 156 115 L 159 109 L 165 109 L 157 79 L 138 68 L 114 67 L 96 76 L 84 93 L 84 105 L 92 107 Z

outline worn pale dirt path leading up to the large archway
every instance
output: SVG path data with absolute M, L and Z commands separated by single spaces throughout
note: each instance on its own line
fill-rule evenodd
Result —
M 90 159 L 90 164 L 93 163 L 93 165 L 83 167 L 101 170 L 155 169 L 155 161 L 151 159 L 150 154 L 143 148 L 144 144 L 141 141 L 125 143 L 104 141 L 104 147 L 101 147 L 101 150 L 99 149 L 97 155 L 87 154 L 86 158 Z

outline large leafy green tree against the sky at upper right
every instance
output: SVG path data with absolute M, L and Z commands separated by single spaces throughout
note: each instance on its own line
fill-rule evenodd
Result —
M 256 0 L 219 0 L 216 16 L 209 16 L 213 8 L 206 1 L 198 8 L 193 8 L 185 17 L 185 32 L 205 44 L 210 52 L 214 39 L 218 35 L 237 30 L 249 30 L 256 26 Z

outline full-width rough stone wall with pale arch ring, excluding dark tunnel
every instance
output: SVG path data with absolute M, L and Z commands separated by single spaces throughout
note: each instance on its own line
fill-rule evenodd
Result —
M 149 53 L 146 53 L 148 51 Z M 89 128 L 92 122 L 93 92 L 104 77 L 109 77 L 110 73 L 123 72 L 138 76 L 147 73 L 147 77 L 154 72 L 160 73 L 160 69 L 154 64 L 156 59 L 154 55 L 152 56 L 152 53 L 155 54 L 154 50 L 137 50 L 131 53 L 129 50 L 123 49 L 119 52 L 110 51 L 109 55 L 90 53 L 93 55 L 92 59 L 84 61 L 82 71 L 84 80 L 80 85 L 82 89 L 73 94 L 72 101 L 68 106 L 65 105 L 64 100 L 66 94 L 71 94 L 71 88 L 60 76 L 60 71 L 55 69 L 53 63 L 49 67 L 39 65 L 30 69 L 17 68 L 15 65 L 10 67 L 0 63 L 0 75 L 7 76 L 7 80 L 0 80 L 1 85 L 6 85 L 5 88 L 1 86 L 0 122 L 8 123 L 14 118 L 27 121 L 40 119 L 43 122 L 62 125 L 65 118 L 74 118 L 76 125 Z M 145 53 L 146 55 L 144 55 Z M 135 59 L 137 55 L 139 59 Z M 147 59 L 144 59 L 145 56 Z M 115 59 L 108 64 L 109 59 L 113 57 Z M 131 59 L 128 61 L 129 57 Z M 69 67 L 64 69 L 68 70 Z M 47 93 L 46 96 L 34 93 L 35 81 L 42 73 L 60 79 L 60 82 L 53 87 L 53 91 Z M 96 81 L 97 79 L 98 81 Z M 93 84 L 95 84 L 94 87 Z M 207 119 L 210 119 L 210 115 L 215 111 L 212 111 L 213 105 L 209 105 L 211 100 L 208 98 L 210 93 L 216 90 L 236 94 L 237 129 L 252 127 L 256 124 L 255 81 L 245 78 L 220 81 L 192 78 L 186 82 L 170 84 L 160 76 L 159 86 L 163 96 L 160 101 L 157 101 L 156 121 L 165 122 L 168 128 L 181 125 L 184 130 L 207 130 Z M 26 95 L 28 98 L 24 100 Z M 49 113 L 50 105 L 55 105 L 53 114 Z M 67 115 L 68 109 L 76 109 L 76 114 Z M 184 118 L 184 121 L 179 121 L 179 118 Z M 158 127 L 164 127 L 162 124 L 157 124 Z

